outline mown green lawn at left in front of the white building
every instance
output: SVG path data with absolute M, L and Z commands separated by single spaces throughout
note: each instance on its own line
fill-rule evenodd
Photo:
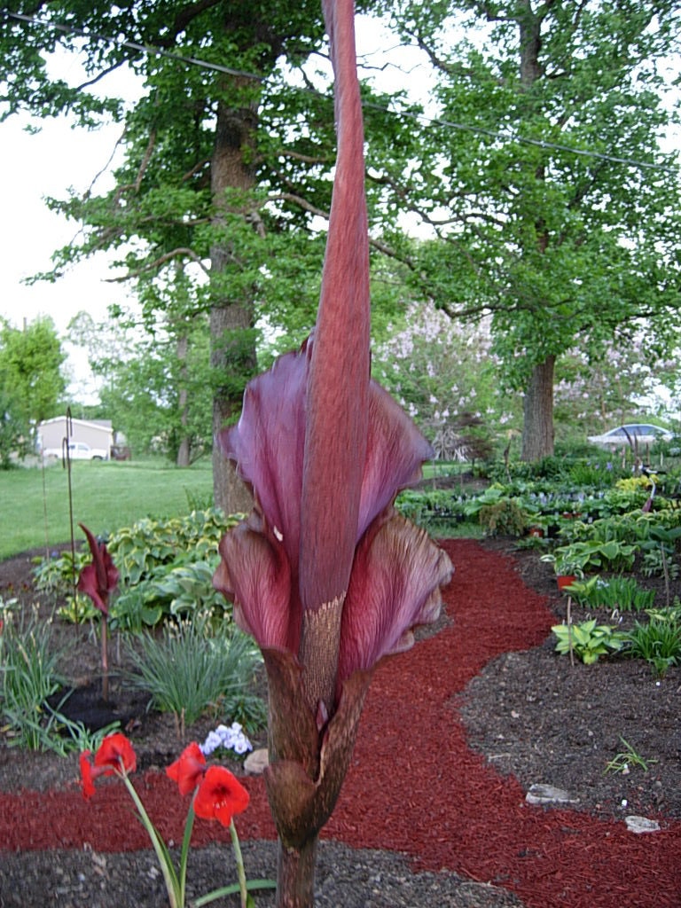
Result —
M 163 460 L 75 461 L 71 465 L 75 538 L 78 523 L 95 535 L 130 526 L 143 517 L 166 518 L 212 504 L 210 459 L 189 469 Z M 0 471 L 0 559 L 71 538 L 68 473 L 61 461 Z

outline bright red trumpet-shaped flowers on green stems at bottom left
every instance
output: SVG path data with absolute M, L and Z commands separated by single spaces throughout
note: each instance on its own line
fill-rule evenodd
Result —
M 94 783 L 100 776 L 115 775 L 123 781 L 152 842 L 163 873 L 163 882 L 171 908 L 184 908 L 186 903 L 187 865 L 195 817 L 216 821 L 230 830 L 238 883 L 223 886 L 194 899 L 192 902 L 194 908 L 201 908 L 202 905 L 233 893 L 239 893 L 241 908 L 249 908 L 253 904 L 249 890 L 271 887 L 273 883 L 269 880 L 255 880 L 251 883 L 246 881 L 234 816 L 242 814 L 248 807 L 250 795 L 228 769 L 225 769 L 224 766 L 207 765 L 201 748 L 195 742 L 185 747 L 180 757 L 167 767 L 166 774 L 177 783 L 180 794 L 192 795 L 184 824 L 179 866 L 176 867 L 168 845 L 163 841 L 130 781 L 129 776 L 134 773 L 136 768 L 137 757 L 128 738 L 120 732 L 107 735 L 95 753 L 94 759 L 89 750 L 80 755 L 81 788 L 84 798 L 90 800 L 96 790 Z

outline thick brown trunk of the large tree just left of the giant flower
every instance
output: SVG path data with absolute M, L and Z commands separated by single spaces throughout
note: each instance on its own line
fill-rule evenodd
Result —
M 240 80 L 232 79 L 232 84 L 238 91 Z M 253 188 L 254 177 L 246 155 L 252 150 L 256 120 L 254 106 L 234 108 L 223 102 L 218 105 L 211 191 L 216 212 L 214 222 L 219 226 L 224 223 L 222 212 L 227 203 L 227 192 L 248 192 Z M 250 335 L 252 300 L 228 299 L 227 281 L 221 280 L 231 258 L 226 239 L 213 246 L 211 272 L 212 277 L 217 278 L 211 310 L 211 368 L 216 374 L 212 399 L 213 439 L 241 410 L 243 388 L 248 373 L 254 371 L 256 364 Z M 235 384 L 238 390 L 234 390 Z M 215 507 L 222 508 L 225 514 L 251 510 L 251 495 L 215 443 L 212 448 L 212 489 Z

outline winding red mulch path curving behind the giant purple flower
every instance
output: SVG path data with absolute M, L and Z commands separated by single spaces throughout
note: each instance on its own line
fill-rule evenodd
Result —
M 467 747 L 457 696 L 490 659 L 540 644 L 554 617 L 510 558 L 470 540 L 443 545 L 456 566 L 445 591 L 453 625 L 380 667 L 323 836 L 410 854 L 415 869 L 504 886 L 528 908 L 678 908 L 681 823 L 636 835 L 622 822 L 530 806 L 513 777 L 498 775 Z M 163 775 L 144 775 L 137 785 L 162 834 L 181 841 L 187 800 Z M 238 818 L 240 835 L 274 838 L 262 779 L 244 785 L 252 803 Z M 229 833 L 216 824 L 194 827 L 195 844 L 218 840 Z M 89 803 L 75 782 L 69 791 L 0 795 L 0 848 L 84 842 L 98 851 L 149 846 L 115 780 Z

